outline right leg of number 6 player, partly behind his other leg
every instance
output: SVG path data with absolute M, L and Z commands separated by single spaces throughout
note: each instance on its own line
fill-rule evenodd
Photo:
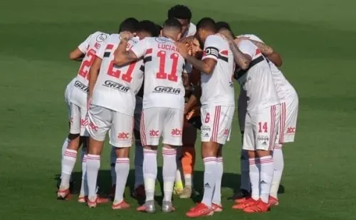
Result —
M 216 157 L 216 163 L 217 163 L 216 183 L 215 183 L 213 199 L 211 201 L 211 208 L 213 209 L 213 211 L 220 212 L 223 210 L 221 204 L 221 180 L 222 180 L 222 175 L 224 173 L 222 145 L 220 145 L 219 147 L 217 157 Z

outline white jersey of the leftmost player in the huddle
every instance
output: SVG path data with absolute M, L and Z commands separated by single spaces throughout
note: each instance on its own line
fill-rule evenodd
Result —
M 70 94 L 70 102 L 80 106 L 82 109 L 86 109 L 87 107 L 86 103 L 89 91 L 88 73 L 90 67 L 94 62 L 96 52 L 101 48 L 108 36 L 107 33 L 97 31 L 89 35 L 88 38 L 78 46 L 78 49 L 85 54 L 85 57 L 80 64 L 74 88 Z

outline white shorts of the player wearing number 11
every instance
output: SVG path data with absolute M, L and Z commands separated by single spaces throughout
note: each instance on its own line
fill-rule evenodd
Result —
M 141 114 L 142 145 L 156 146 L 162 136 L 162 143 L 182 145 L 183 109 L 149 108 Z

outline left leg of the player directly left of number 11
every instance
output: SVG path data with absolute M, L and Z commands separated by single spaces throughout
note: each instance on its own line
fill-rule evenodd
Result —
M 97 180 L 100 169 L 100 154 L 103 150 L 103 141 L 89 139 L 87 157 L 87 180 L 88 180 L 88 207 L 96 207 L 98 203 L 108 202 L 108 199 L 99 198 L 97 195 Z

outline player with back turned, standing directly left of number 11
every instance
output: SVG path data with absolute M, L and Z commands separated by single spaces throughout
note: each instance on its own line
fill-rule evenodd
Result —
M 130 146 L 132 145 L 133 114 L 135 94 L 141 87 L 143 72 L 142 60 L 124 67 L 113 64 L 114 51 L 120 43 L 121 33 L 135 32 L 138 21 L 127 18 L 120 24 L 119 34 L 112 34 L 103 48 L 96 54 L 90 68 L 88 102 L 88 133 L 90 134 L 87 175 L 88 207 L 96 207 L 98 196 L 95 186 L 100 168 L 100 154 L 103 150 L 106 133 L 110 130 L 110 144 L 116 149 L 116 189 L 112 209 L 130 207 L 123 199 L 127 176 L 130 170 Z M 130 40 L 128 47 L 137 43 Z

